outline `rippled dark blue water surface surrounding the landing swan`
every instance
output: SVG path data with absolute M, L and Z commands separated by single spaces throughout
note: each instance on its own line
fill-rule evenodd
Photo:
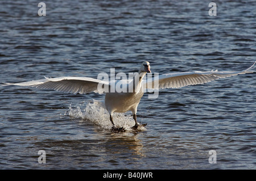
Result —
M 256 55 L 256 2 L 0 2 L 0 82 L 137 71 L 236 71 Z M 146 131 L 111 133 L 103 95 L 0 89 L 1 169 L 256 169 L 255 73 L 147 95 Z M 120 124 L 133 123 L 129 112 Z M 38 163 L 38 151 L 46 163 Z M 209 150 L 216 150 L 210 164 Z

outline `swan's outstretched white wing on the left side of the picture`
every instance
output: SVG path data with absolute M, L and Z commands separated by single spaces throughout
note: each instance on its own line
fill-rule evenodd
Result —
M 104 89 L 98 89 L 98 83 L 101 86 L 108 86 L 109 83 L 89 77 L 57 77 L 46 78 L 38 81 L 20 82 L 20 83 L 5 83 L 5 85 L 15 86 L 31 86 L 38 89 L 51 89 L 60 92 L 67 92 L 73 94 L 86 94 L 89 92 L 104 93 Z

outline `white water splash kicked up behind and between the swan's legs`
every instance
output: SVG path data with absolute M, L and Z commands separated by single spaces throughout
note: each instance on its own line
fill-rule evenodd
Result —
M 81 108 L 85 107 L 85 108 Z M 97 102 L 86 103 L 85 105 L 80 105 L 77 107 L 69 106 L 69 111 L 65 113 L 69 115 L 72 119 L 80 119 L 81 121 L 91 121 L 93 124 L 100 127 L 104 131 L 110 131 L 112 128 L 112 123 L 110 122 L 109 113 L 106 111 L 101 104 Z M 133 117 L 127 113 L 114 113 L 113 121 L 116 127 L 125 128 L 125 131 L 132 131 L 131 127 L 134 126 Z M 144 128 L 146 130 L 146 128 Z M 140 130 L 140 131 L 144 131 Z

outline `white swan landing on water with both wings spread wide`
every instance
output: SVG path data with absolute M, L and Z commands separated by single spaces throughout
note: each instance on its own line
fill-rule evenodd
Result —
M 115 127 L 113 121 L 114 112 L 131 111 L 135 121 L 134 126 L 131 128 L 138 130 L 139 127 L 146 127 L 146 124 L 138 124 L 136 116 L 138 104 L 141 101 L 146 89 L 159 90 L 167 88 L 179 88 L 189 85 L 199 85 L 234 75 L 254 73 L 255 63 L 256 61 L 252 66 L 250 66 L 250 68 L 243 71 L 188 71 L 162 74 L 145 80 L 143 77 L 147 73 L 151 73 L 151 70 L 150 63 L 148 61 L 144 61 L 133 79 L 114 80 L 114 84 L 113 81 L 105 81 L 90 77 L 45 77 L 44 79 L 36 81 L 3 83 L 1 86 L 31 86 L 38 89 L 51 89 L 73 94 L 86 94 L 89 92 L 105 94 L 105 108 L 109 112 L 110 121 L 113 125 L 111 131 L 118 133 L 125 130 L 123 128 Z M 127 85 L 127 91 L 118 91 L 115 89 L 113 91 L 113 86 L 116 86 L 118 83 L 122 86 Z M 104 89 L 102 89 L 102 87 L 104 87 Z

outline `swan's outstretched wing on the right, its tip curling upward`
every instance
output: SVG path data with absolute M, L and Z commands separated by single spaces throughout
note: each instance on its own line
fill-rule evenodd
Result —
M 143 87 L 146 89 L 179 88 L 189 85 L 203 84 L 219 78 L 231 77 L 239 74 L 253 73 L 256 62 L 253 66 L 243 71 L 191 71 L 183 73 L 171 73 L 159 75 L 152 79 L 143 80 Z

